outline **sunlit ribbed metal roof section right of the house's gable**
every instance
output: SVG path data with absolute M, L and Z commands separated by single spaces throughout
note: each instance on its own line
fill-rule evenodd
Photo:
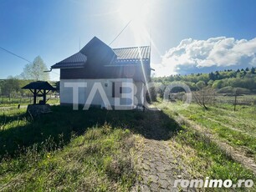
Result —
M 149 62 L 151 57 L 150 46 L 131 47 L 131 48 L 113 48 L 117 58 L 113 63 L 141 63 Z

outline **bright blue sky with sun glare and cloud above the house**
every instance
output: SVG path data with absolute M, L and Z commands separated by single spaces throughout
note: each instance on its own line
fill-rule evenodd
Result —
M 0 47 L 48 68 L 93 37 L 151 45 L 154 76 L 256 66 L 254 0 L 0 0 Z M 0 49 L 0 79 L 28 63 Z M 50 73 L 59 80 L 59 70 Z

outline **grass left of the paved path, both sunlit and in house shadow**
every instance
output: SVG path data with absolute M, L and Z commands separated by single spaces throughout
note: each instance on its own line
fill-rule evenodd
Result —
M 129 191 L 138 178 L 136 135 L 169 139 L 178 129 L 161 112 L 74 111 L 60 106 L 52 110 L 38 119 L 30 119 L 25 109 L 2 110 L 3 190 Z M 154 118 L 169 129 L 158 132 Z

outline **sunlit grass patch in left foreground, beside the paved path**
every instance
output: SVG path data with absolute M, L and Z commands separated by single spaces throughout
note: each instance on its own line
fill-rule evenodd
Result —
M 51 138 L 41 145 L 39 152 L 34 144 L 17 158 L 2 160 L 3 190 L 124 191 L 136 181 L 128 129 L 105 124 L 72 137 L 64 147 Z

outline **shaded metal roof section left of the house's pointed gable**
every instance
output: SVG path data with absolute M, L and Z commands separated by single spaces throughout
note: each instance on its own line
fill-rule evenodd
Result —
M 83 68 L 86 61 L 87 57 L 79 52 L 54 64 L 52 68 Z

